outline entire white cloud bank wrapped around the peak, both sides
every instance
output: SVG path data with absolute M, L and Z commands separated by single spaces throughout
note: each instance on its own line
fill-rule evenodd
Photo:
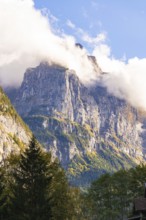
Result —
M 75 46 L 73 36 L 54 30 L 46 13 L 36 10 L 32 0 L 0 0 L 1 85 L 19 86 L 28 67 L 48 61 L 75 70 L 86 85 L 101 80 L 110 93 L 146 110 L 146 58 L 116 59 L 105 44 L 106 33 L 92 37 L 68 20 L 68 27 L 90 45 L 99 67 L 108 73 L 98 79 L 88 52 Z

